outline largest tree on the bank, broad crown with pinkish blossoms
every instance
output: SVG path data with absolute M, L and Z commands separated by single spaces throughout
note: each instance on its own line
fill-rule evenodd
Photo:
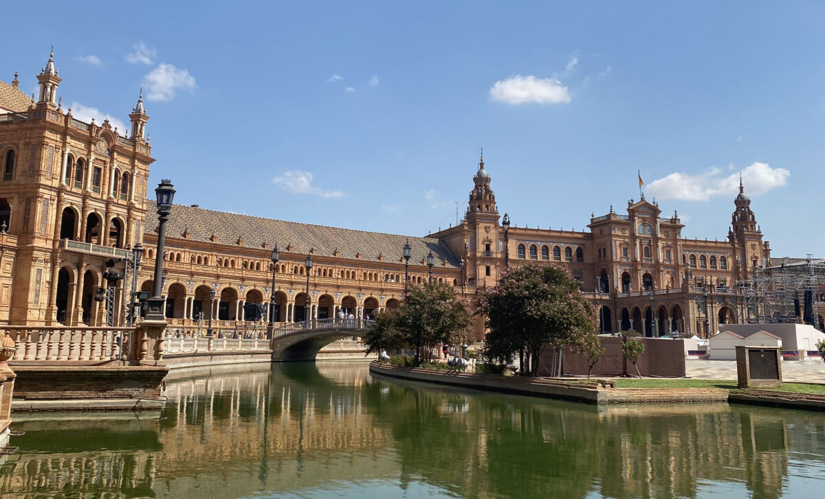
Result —
M 509 361 L 519 352 L 522 375 L 538 375 L 544 348 L 574 347 L 596 333 L 596 314 L 563 268 L 528 263 L 507 271 L 479 296 L 487 317 L 486 355 Z

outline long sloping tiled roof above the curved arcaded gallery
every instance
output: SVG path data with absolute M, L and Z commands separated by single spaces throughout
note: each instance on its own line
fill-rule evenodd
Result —
M 158 217 L 154 216 L 156 209 L 153 207 L 156 205 L 152 200 L 149 200 L 148 205 L 151 209 L 147 210 L 146 231 L 155 232 L 158 229 Z M 332 256 L 338 250 L 338 258 L 356 259 L 356 254 L 361 253 L 362 261 L 378 262 L 379 255 L 383 255 L 384 262 L 388 263 L 403 263 L 403 245 L 409 240 L 413 250 L 410 265 L 426 264 L 422 260 L 432 251 L 436 257 L 435 268 L 441 268 L 442 261 L 446 261 L 448 267 L 460 266 L 459 259 L 450 252 L 447 245 L 431 237 L 355 231 L 172 205 L 172 213 L 167 222 L 167 237 L 181 238 L 184 231 L 188 232 L 190 240 L 201 242 L 210 242 L 214 234 L 214 242 L 220 245 L 236 245 L 240 237 L 243 246 L 247 248 L 261 249 L 262 243 L 266 241 L 269 248 L 277 243 L 281 251 L 285 251 L 287 245 L 292 245 L 291 253 L 307 254 L 314 248 L 315 254 Z

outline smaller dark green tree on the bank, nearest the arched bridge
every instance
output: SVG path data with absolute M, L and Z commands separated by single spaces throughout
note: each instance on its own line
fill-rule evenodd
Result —
M 446 282 L 425 282 L 408 287 L 398 309 L 398 329 L 404 343 L 414 346 L 419 362 L 429 359 L 437 344 L 458 343 L 469 325 L 469 310 Z

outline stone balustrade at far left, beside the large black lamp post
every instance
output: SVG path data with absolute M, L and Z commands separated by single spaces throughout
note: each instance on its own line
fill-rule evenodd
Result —
M 110 361 L 129 358 L 132 328 L 4 326 L 14 340 L 12 361 Z

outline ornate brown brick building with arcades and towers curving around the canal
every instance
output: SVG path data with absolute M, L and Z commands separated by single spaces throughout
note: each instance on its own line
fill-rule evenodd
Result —
M 154 161 L 145 136 L 148 114 L 139 96 L 129 131 L 82 123 L 55 103 L 60 78 L 53 56 L 37 79 L 37 100 L 20 91 L 17 75 L 11 85 L 0 82 L 0 230 L 7 227 L 0 234 L 0 321 L 105 324 L 104 304 L 93 298 L 106 287 L 106 261 L 130 259 L 130 247 L 142 241 L 147 251 L 136 285 L 148 291 L 158 258 L 155 207 L 146 199 Z M 244 304 L 268 304 L 274 296 L 277 322 L 303 319 L 308 254 L 314 316 L 339 310 L 373 315 L 398 306 L 403 296 L 406 243 L 410 280 L 431 275 L 468 300 L 495 286 L 507 265 L 561 264 L 582 282 L 605 332 L 705 333 L 759 315 L 747 282 L 753 268 L 770 264 L 770 246 L 741 183 L 727 238 L 688 240 L 676 212 L 662 217 L 658 204 L 643 197 L 631 199 L 626 214 L 610 207 L 591 217 L 587 231 L 502 225 L 483 158 L 473 181 L 464 220 L 427 237 L 176 205 L 160 255 L 167 317 L 173 325 L 193 326 L 211 316 L 215 327 L 234 327 L 246 319 Z M 276 244 L 281 259 L 273 267 Z M 124 263 L 116 265 L 123 269 Z M 130 279 L 116 287 L 118 324 L 125 320 Z M 472 334 L 483 337 L 480 320 Z

